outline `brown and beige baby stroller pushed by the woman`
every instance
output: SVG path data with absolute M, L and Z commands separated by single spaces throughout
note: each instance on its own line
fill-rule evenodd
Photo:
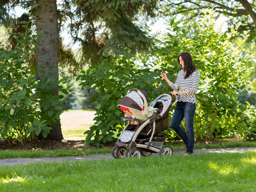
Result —
M 115 143 L 112 156 L 141 157 L 152 153 L 172 156 L 172 148 L 163 146 L 166 136 L 161 131 L 169 128 L 168 114 L 179 100 L 179 95 L 177 97 L 173 102 L 173 96 L 162 94 L 148 106 L 147 92 L 137 88 L 129 90 L 117 105 L 124 112 L 125 116 L 121 119 L 127 121 L 127 125 Z

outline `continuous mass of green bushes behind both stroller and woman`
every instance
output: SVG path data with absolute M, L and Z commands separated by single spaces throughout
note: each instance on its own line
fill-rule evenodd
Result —
M 116 104 L 127 90 L 134 87 L 146 90 L 151 101 L 161 93 L 169 92 L 170 88 L 160 79 L 159 68 L 163 68 L 168 78 L 175 82 L 177 72 L 181 70 L 177 56 L 185 51 L 193 55 L 201 74 L 195 116 L 196 139 L 244 136 L 251 126 L 244 124 L 249 121 L 244 113 L 248 106 L 242 106 L 236 98 L 237 92 L 248 86 L 246 71 L 249 68 L 245 63 L 249 56 L 243 54 L 247 33 L 241 35 L 239 47 L 235 47 L 230 38 L 237 33 L 236 29 L 232 33 L 216 31 L 213 13 L 213 10 L 205 11 L 196 30 L 190 33 L 187 33 L 189 28 L 181 28 L 180 22 L 172 20 L 168 37 L 157 42 L 154 62 L 143 57 L 137 64 L 134 58 L 120 58 L 109 63 L 104 60 L 99 68 L 90 67 L 79 76 L 83 88 L 88 86 L 97 91 L 90 100 L 99 102 L 95 125 L 85 132 L 87 144 L 106 143 L 115 138 L 115 132 L 121 131 L 122 114 Z M 173 136 L 172 132 L 170 134 Z

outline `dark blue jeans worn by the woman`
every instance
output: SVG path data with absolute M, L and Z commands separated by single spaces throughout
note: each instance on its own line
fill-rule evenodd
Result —
M 173 113 L 171 128 L 177 132 L 177 134 L 182 138 L 186 145 L 188 152 L 193 152 L 195 143 L 195 132 L 194 132 L 194 115 L 196 111 L 196 104 L 189 102 L 177 102 L 176 108 Z M 180 124 L 185 118 L 186 132 L 180 127 Z

